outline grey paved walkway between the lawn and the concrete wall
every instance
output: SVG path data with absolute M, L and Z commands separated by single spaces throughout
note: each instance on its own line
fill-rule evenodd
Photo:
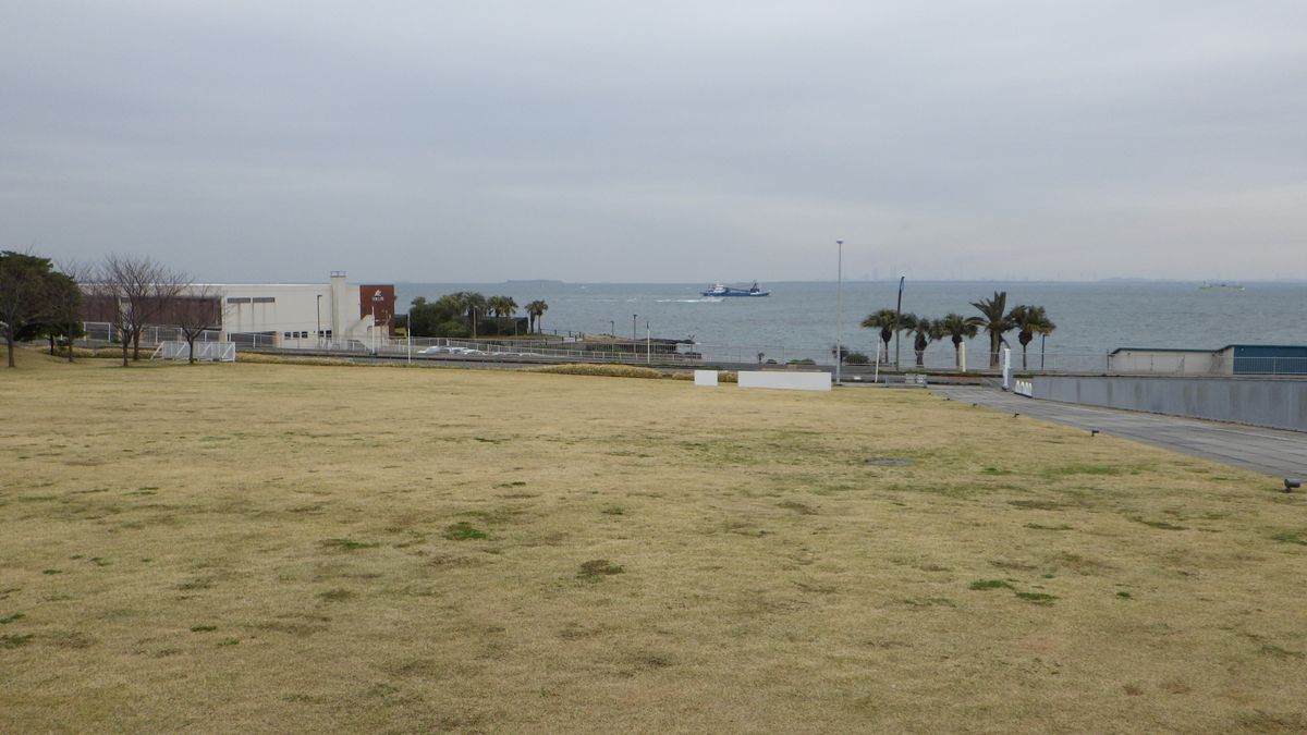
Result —
M 1307 479 L 1307 433 L 1302 432 L 1035 400 L 997 388 L 940 386 L 932 390 L 953 400 L 1019 412 L 1022 416 L 1086 430 L 1098 429 L 1104 434 L 1127 437 L 1255 472 Z

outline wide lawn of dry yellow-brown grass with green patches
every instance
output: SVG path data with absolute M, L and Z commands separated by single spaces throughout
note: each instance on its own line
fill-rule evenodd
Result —
M 1307 727 L 1302 496 L 1111 437 L 31 356 L 0 405 L 0 731 Z

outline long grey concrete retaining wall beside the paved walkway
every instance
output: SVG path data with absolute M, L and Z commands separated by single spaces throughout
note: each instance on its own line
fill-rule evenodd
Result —
M 1307 381 L 1040 375 L 1034 398 L 1307 432 Z

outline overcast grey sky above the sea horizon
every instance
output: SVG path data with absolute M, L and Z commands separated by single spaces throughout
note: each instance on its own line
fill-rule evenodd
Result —
M 0 248 L 204 280 L 1307 277 L 1303 0 L 0 0 Z

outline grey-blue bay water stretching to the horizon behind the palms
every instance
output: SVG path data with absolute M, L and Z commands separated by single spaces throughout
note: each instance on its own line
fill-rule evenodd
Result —
M 736 284 L 748 286 L 748 284 Z M 533 299 L 549 305 L 546 331 L 609 333 L 643 339 L 646 320 L 656 337 L 694 337 L 706 354 L 737 353 L 752 361 L 769 357 L 813 357 L 829 361 L 835 344 L 834 282 L 763 282 L 767 298 L 706 301 L 711 284 L 396 284 L 396 309 L 417 296 L 429 301 L 457 290 L 511 296 L 519 306 Z M 1008 292 L 1017 303 L 1043 306 L 1057 330 L 1048 336 L 1050 354 L 1103 354 L 1119 347 L 1219 348 L 1226 344 L 1307 344 L 1307 284 L 1247 284 L 1244 290 L 1204 290 L 1196 282 L 907 282 L 903 311 L 937 318 L 955 311 L 978 314 L 972 301 Z M 859 322 L 878 309 L 893 309 L 898 282 L 846 281 L 839 320 L 846 349 L 874 354 L 876 336 Z M 1009 335 L 1014 349 L 1016 333 Z M 1039 349 L 1039 340 L 1031 345 Z M 988 348 L 984 335 L 967 350 Z M 911 353 L 903 343 L 904 361 Z M 951 343 L 927 350 L 928 364 L 953 360 Z M 975 360 L 975 357 L 972 357 Z

